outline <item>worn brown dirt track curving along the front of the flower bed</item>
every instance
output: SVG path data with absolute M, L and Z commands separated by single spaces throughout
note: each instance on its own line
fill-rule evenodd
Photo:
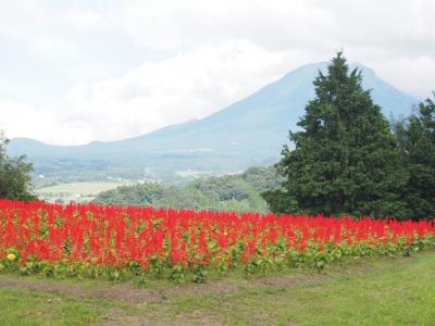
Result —
M 150 288 L 140 288 L 134 283 L 98 284 L 80 283 L 79 280 L 37 279 L 18 276 L 0 275 L 0 288 L 20 288 L 30 291 L 48 292 L 59 297 L 75 297 L 84 299 L 105 299 L 136 308 L 136 310 L 123 309 L 122 305 L 112 305 L 101 310 L 103 325 L 222 325 L 222 316 L 213 314 L 213 311 L 194 311 L 191 313 L 178 313 L 174 315 L 165 311 L 164 306 L 177 297 L 186 296 L 225 296 L 237 294 L 244 290 L 258 290 L 261 288 L 291 288 L 299 285 L 314 284 L 337 277 L 348 277 L 376 273 L 397 264 L 402 259 L 391 260 L 382 265 L 375 262 L 360 260 L 346 263 L 346 267 L 338 265 L 324 273 L 313 271 L 284 272 L 277 276 L 269 276 L 253 279 L 212 280 L 206 284 L 159 285 L 151 284 Z M 412 260 L 407 258 L 406 260 Z M 159 311 L 147 310 L 146 313 L 137 310 L 140 306 L 156 306 Z M 259 316 L 257 316 L 259 317 Z

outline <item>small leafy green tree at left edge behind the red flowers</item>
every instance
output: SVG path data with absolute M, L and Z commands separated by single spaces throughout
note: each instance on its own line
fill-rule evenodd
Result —
M 25 156 L 9 158 L 5 146 L 9 140 L 0 134 L 0 198 L 32 200 L 33 166 Z

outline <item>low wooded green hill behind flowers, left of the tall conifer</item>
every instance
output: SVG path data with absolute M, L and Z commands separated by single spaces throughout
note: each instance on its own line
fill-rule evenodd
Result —
M 200 178 L 186 187 L 141 184 L 100 192 L 97 203 L 153 205 L 157 208 L 266 212 L 261 191 L 281 183 L 273 167 L 251 167 L 238 175 Z

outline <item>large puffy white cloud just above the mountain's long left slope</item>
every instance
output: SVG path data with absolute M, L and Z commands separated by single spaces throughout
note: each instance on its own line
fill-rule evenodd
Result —
M 144 63 L 116 78 L 77 85 L 65 121 L 89 124 L 91 139 L 113 140 L 202 117 L 276 79 L 283 57 L 227 42 Z

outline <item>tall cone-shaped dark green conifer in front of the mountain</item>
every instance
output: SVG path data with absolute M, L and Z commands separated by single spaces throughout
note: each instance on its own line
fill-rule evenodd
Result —
M 403 213 L 400 191 L 406 183 L 395 138 L 358 68 L 349 73 L 339 52 L 313 82 L 309 101 L 289 133 L 295 149 L 284 146 L 278 172 L 282 189 L 263 198 L 275 212 L 327 215 L 397 216 Z M 287 204 L 285 204 L 287 202 Z

